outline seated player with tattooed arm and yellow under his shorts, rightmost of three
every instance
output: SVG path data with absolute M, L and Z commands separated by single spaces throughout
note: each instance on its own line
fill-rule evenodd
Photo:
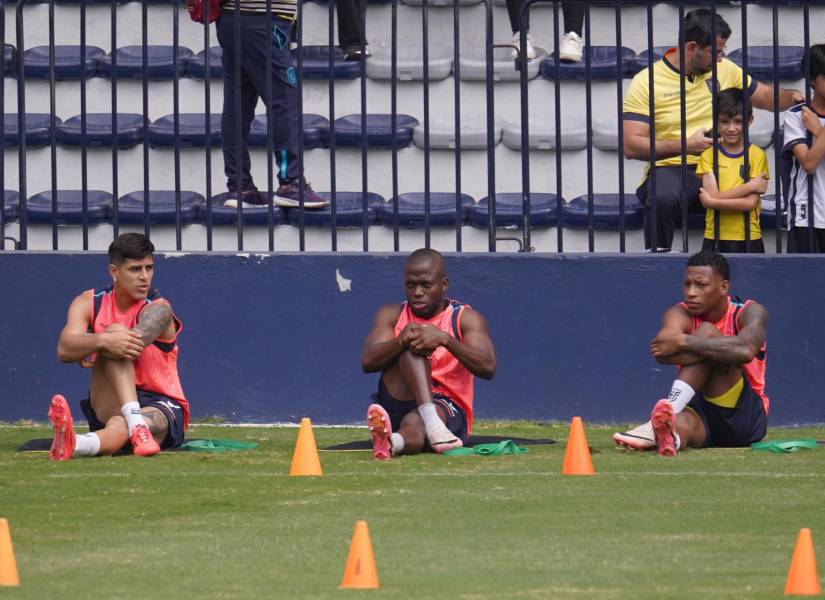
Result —
M 758 442 L 768 425 L 767 309 L 730 296 L 728 261 L 708 250 L 688 259 L 682 291 L 684 301 L 665 311 L 650 342 L 653 358 L 678 367 L 670 395 L 648 423 L 613 439 L 637 450 L 656 447 L 662 456 Z

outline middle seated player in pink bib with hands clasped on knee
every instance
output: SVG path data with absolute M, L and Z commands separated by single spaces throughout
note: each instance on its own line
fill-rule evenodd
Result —
M 404 269 L 407 301 L 375 314 L 364 343 L 365 373 L 381 372 L 367 425 L 375 458 L 445 452 L 462 446 L 473 426 L 473 376 L 496 372 L 487 321 L 445 297 L 447 274 L 435 250 L 416 250 Z

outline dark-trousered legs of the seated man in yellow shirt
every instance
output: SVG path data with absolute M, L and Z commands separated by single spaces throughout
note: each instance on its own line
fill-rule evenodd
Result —
M 651 249 L 656 242 L 656 249 L 669 251 L 673 244 L 673 230 L 681 220 L 682 203 L 688 204 L 688 211 L 696 211 L 701 206 L 699 188 L 701 180 L 696 177 L 696 169 L 688 167 L 685 182 L 682 185 L 680 167 L 656 167 L 656 195 L 651 197 L 648 178 L 636 190 L 636 196 L 644 208 L 645 249 Z M 656 222 L 653 223 L 653 205 L 656 206 Z

